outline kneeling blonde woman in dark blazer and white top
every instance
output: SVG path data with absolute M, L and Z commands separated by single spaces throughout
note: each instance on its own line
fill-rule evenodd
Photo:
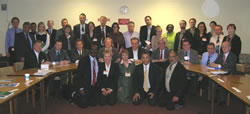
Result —
M 112 62 L 112 51 L 103 52 L 104 63 L 99 63 L 98 86 L 100 88 L 100 104 L 114 105 L 116 103 L 119 66 Z

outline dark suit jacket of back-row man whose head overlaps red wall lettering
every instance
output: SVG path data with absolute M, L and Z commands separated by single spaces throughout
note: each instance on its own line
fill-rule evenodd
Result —
M 113 32 L 112 28 L 106 25 L 106 38 L 109 37 L 112 32 Z M 101 45 L 102 30 L 101 30 L 100 25 L 95 28 L 95 34 L 96 34 L 96 37 L 97 37 L 97 46 L 100 48 L 100 47 L 102 47 L 102 45 Z

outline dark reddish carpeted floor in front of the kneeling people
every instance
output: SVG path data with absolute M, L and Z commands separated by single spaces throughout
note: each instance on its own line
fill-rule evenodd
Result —
M 17 99 L 17 114 L 39 114 L 39 100 L 37 100 L 36 108 L 32 108 L 31 103 L 26 103 L 25 95 L 21 95 Z M 244 114 L 244 104 L 231 97 L 229 107 L 215 104 L 215 114 Z M 116 104 L 115 106 L 96 106 L 81 109 L 67 100 L 60 97 L 50 97 L 46 101 L 47 114 L 209 114 L 210 103 L 207 96 L 187 96 L 186 103 L 180 110 L 168 111 L 166 108 L 158 106 L 150 106 L 144 103 L 139 106 L 132 104 Z M 0 105 L 0 114 L 9 114 L 9 104 Z

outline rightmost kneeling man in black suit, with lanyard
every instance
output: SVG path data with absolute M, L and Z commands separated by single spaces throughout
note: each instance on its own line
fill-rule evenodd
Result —
M 169 59 L 164 66 L 163 94 L 160 95 L 158 103 L 166 106 L 168 110 L 180 108 L 184 101 L 186 87 L 186 69 L 178 61 L 174 51 L 169 53 Z

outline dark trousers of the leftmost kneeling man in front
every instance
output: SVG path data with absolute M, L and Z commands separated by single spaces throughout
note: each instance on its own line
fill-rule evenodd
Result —
M 73 102 L 81 108 L 96 106 L 99 103 L 99 93 L 96 87 L 84 90 L 84 95 L 76 92 L 73 96 Z

